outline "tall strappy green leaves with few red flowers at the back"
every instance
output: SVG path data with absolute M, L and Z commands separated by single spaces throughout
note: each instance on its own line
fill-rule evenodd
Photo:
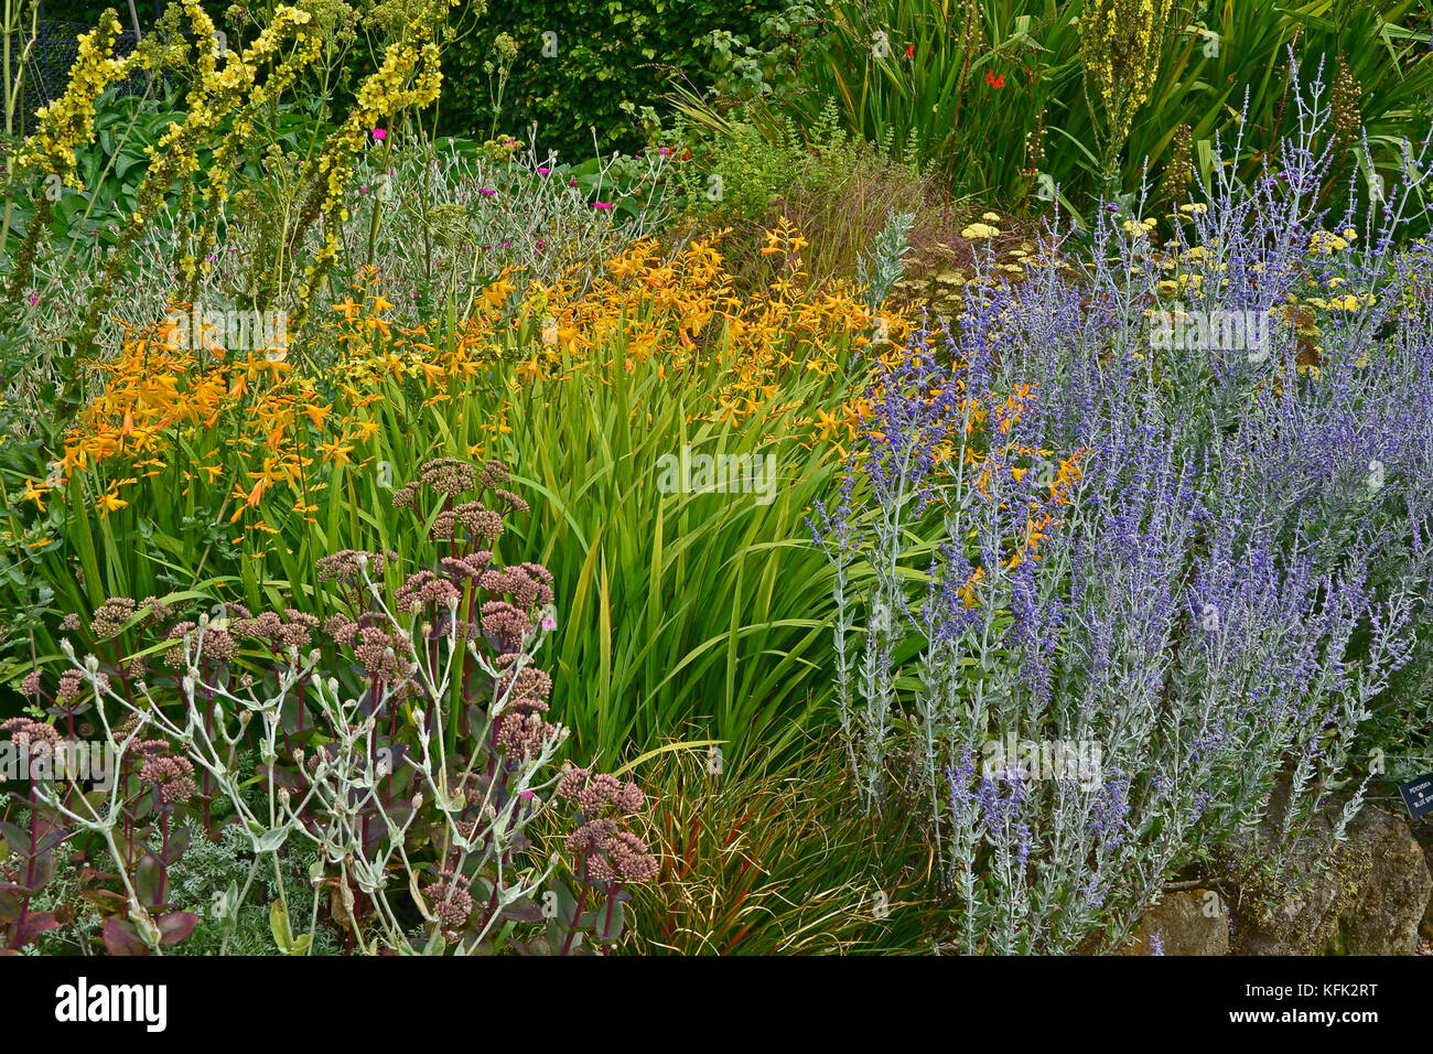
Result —
M 1275 142 L 1297 133 L 1297 108 L 1288 100 L 1291 49 L 1305 69 L 1321 62 L 1330 80 L 1336 62 L 1346 60 L 1369 136 L 1369 152 L 1358 146 L 1354 172 L 1367 175 L 1371 168 L 1389 178 L 1399 168 L 1401 142 L 1426 123 L 1433 60 L 1417 0 L 1308 0 L 1293 7 L 1178 3 L 1159 42 L 1141 44 L 1138 59 L 1121 36 L 1128 20 L 1116 19 L 1115 36 L 1102 44 L 1092 34 L 1082 37 L 1082 20 L 1103 17 L 1106 6 L 841 0 L 810 39 L 790 30 L 751 34 L 745 47 L 752 53 L 795 49 L 800 56 L 759 66 L 759 89 L 751 90 L 751 77 L 738 76 L 718 82 L 727 90 L 709 98 L 679 92 L 675 105 L 708 129 L 752 123 L 775 141 L 785 119 L 817 126 L 831 100 L 845 128 L 934 163 L 956 195 L 1003 208 L 1059 202 L 1079 215 L 1088 215 L 1101 191 L 1132 192 L 1146 163 L 1151 172 L 1166 171 L 1184 126 L 1192 163 L 1205 181 L 1215 136 L 1228 142 L 1244 129 L 1254 133 L 1251 139 Z M 1132 26 L 1129 32 L 1134 37 Z M 1123 49 L 1141 76 L 1158 70 L 1138 119 L 1118 115 L 1118 135 L 1101 132 L 1106 108 L 1098 85 L 1086 96 L 1082 39 L 1111 60 L 1123 62 L 1115 50 Z M 1361 40 L 1379 46 L 1351 43 Z M 758 63 L 731 47 L 715 57 L 718 70 L 741 62 L 747 69 Z M 1262 155 L 1230 161 L 1241 175 L 1252 175 Z M 1347 199 L 1348 171 L 1331 174 L 1323 188 L 1336 209 Z

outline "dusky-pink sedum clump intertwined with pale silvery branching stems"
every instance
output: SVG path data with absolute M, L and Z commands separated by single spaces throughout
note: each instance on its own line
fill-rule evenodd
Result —
M 60 924 L 30 912 L 60 840 L 113 862 L 110 873 L 87 870 L 82 892 L 106 915 L 110 954 L 182 941 L 199 915 L 176 911 L 169 869 L 196 826 L 218 836 L 226 817 L 249 866 L 242 883 L 212 891 L 221 954 L 262 869 L 272 875 L 269 929 L 288 955 L 312 952 L 321 915 L 361 952 L 610 951 L 629 886 L 658 873 L 641 836 L 619 826 L 639 819 L 645 797 L 631 780 L 550 771 L 567 733 L 543 718 L 552 678 L 532 660 L 556 627 L 552 576 L 532 562 L 500 566 L 483 548 L 506 513 L 526 509 L 506 482 L 497 463 L 437 459 L 394 493 L 446 556 L 408 574 L 391 601 L 378 582 L 397 572 L 398 554 L 345 549 L 318 564 L 332 599 L 324 619 L 219 605 L 175 621 L 155 598 L 110 598 L 87 625 L 69 619 L 89 654 L 79 658 L 66 638 L 72 668 L 53 693 L 39 670 L 23 690 L 49 700 L 72 736 L 92 714 L 113 766 L 93 789 L 59 761 L 27 771 L 29 836 L 3 832 L 19 858 L 0 891 L 9 946 Z M 4 728 L 27 757 L 29 743 L 47 759 L 69 749 L 49 721 Z M 252 757 L 261 793 L 244 766 Z M 539 908 L 555 873 L 553 902 L 572 893 L 560 858 L 542 862 L 524 835 L 555 799 L 576 809 L 570 915 Z M 284 878 L 291 843 L 311 860 L 307 924 Z M 542 918 L 553 921 L 542 928 Z

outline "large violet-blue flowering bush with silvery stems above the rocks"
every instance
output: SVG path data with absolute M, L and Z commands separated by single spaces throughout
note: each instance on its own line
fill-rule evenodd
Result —
M 1433 621 L 1433 254 L 1396 248 L 1427 175 L 1412 153 L 1357 238 L 1311 251 L 1357 222 L 1314 205 L 1317 98 L 1281 168 L 1240 185 L 1215 165 L 1162 254 L 1112 217 L 1088 274 L 1030 265 L 917 331 L 817 509 L 863 802 L 916 810 L 967 954 L 1119 946 L 1181 868 L 1278 870 L 1318 848 L 1317 812 L 1338 839 L 1361 804 L 1350 744 Z M 1195 245 L 1182 310 L 1261 313 L 1267 346 L 1152 341 L 1161 255 Z M 1358 310 L 1315 315 L 1308 370 L 1288 295 L 1350 293 Z M 1012 741 L 1099 764 L 986 764 Z

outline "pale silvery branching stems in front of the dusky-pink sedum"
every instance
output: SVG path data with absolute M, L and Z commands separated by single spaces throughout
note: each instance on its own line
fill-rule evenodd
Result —
M 219 891 L 205 912 L 206 919 L 224 928 L 219 954 L 228 954 L 241 921 L 241 912 L 251 906 L 251 896 L 274 879 L 272 889 L 278 899 L 267 905 L 271 913 L 271 929 L 279 951 L 289 954 L 311 954 L 315 951 L 314 935 L 318 925 L 320 898 L 327 896 L 325 880 L 338 879 L 335 889 L 353 911 L 354 891 L 363 893 L 374 908 L 374 936 L 365 945 L 355 934 L 360 951 L 375 954 L 383 949 L 400 954 L 444 954 L 451 951 L 444 936 L 444 926 L 433 912 L 437 905 L 427 903 L 417 893 L 424 875 L 410 862 L 406 850 L 406 835 L 416 822 L 436 829 L 444 845 L 450 848 L 453 866 L 459 873 L 489 876 L 492 882 L 492 912 L 480 932 L 464 935 L 457 945 L 459 954 L 476 952 L 490 936 L 494 924 L 503 919 L 503 908 L 530 898 L 552 875 L 557 856 L 546 866 L 524 863 L 529 859 L 519 846 L 526 845 L 524 829 L 547 807 L 547 790 L 556 784 L 559 773 L 553 761 L 566 741 L 566 728 L 555 726 L 556 733 L 543 740 L 536 756 L 520 761 L 510 784 L 512 797 L 526 799 L 520 809 L 502 809 L 480 803 L 476 823 L 464 823 L 463 815 L 471 807 L 463 787 L 479 764 L 486 764 L 489 744 L 493 740 L 493 726 L 512 701 L 517 673 L 527 667 L 546 635 L 535 631 L 524 641 L 516 661 L 502 671 L 471 641 L 460 638 L 457 622 L 450 624 L 447 635 L 430 640 L 427 628 L 416 624 L 403 625 L 384 604 L 380 587 L 370 578 L 367 564 L 363 565 L 363 585 L 371 595 L 374 612 L 378 614 L 394 634 L 407 635 L 417 644 L 413 650 L 416 668 L 413 680 L 420 685 L 430 708 L 416 710 L 417 750 L 407 751 L 403 763 L 417 771 L 417 786 L 421 787 L 407 809 L 394 810 L 394 803 L 380 797 L 380 786 L 393 771 L 397 759 L 388 751 L 373 751 L 370 744 L 377 728 L 375 714 L 390 713 L 387 687 L 378 687 L 377 698 L 364 706 L 358 698 L 342 698 L 337 678 L 324 678 L 318 668 L 321 654 L 314 650 L 301 657 L 297 648 L 289 648 L 287 661 L 275 671 L 277 683 L 259 694 L 257 685 L 232 693 L 224 684 L 211 683 L 201 675 L 205 667 L 205 632 L 211 619 L 203 617 L 198 630 L 183 641 L 183 665 L 188 673 L 182 678 L 182 711 L 173 713 L 159 706 L 145 683 L 136 685 L 135 697 L 116 691 L 107 678 L 99 674 L 95 657 L 79 660 L 69 640 L 62 650 L 73 665 L 86 675 L 89 687 L 97 700 L 95 713 L 100 721 L 102 737 L 115 749 L 115 769 L 122 770 L 126 756 L 135 744 L 145 739 L 163 737 L 176 744 L 195 769 L 208 774 L 216 789 L 216 797 L 235 813 L 236 829 L 242 833 L 249 866 L 242 885 L 234 883 Z M 449 716 L 453 678 L 463 652 L 476 670 L 493 684 L 493 697 L 477 708 L 483 721 L 474 724 L 466 737 L 469 753 L 449 756 L 443 728 Z M 245 753 L 245 733 L 254 726 L 259 744 L 259 761 L 272 766 L 279 759 L 279 736 L 282 733 L 282 706 L 291 698 L 301 678 L 308 678 L 308 703 L 317 711 L 317 731 L 325 741 L 314 764 L 308 766 L 307 787 L 289 793 L 277 780 L 264 782 L 264 794 L 255 800 L 246 787 L 251 773 L 241 767 Z M 397 706 L 398 700 L 393 701 Z M 135 726 L 120 733 L 106 716 L 106 707 L 133 716 Z M 471 714 L 471 711 L 470 711 Z M 471 717 L 470 717 L 471 720 Z M 461 746 L 460 746 L 461 750 Z M 295 759 L 304 763 L 299 754 Z M 484 770 L 486 771 L 486 770 Z M 36 786 L 40 803 L 64 817 L 70 825 L 100 837 L 116 872 L 123 883 L 129 902 L 129 918 L 140 939 L 155 954 L 162 951 L 160 934 L 150 913 L 132 883 L 125 866 L 125 853 L 119 846 L 118 830 L 123 816 L 123 780 L 113 780 L 103 793 L 69 794 L 63 783 Z M 487 793 L 494 793 L 499 782 L 487 783 Z M 377 807 L 388 817 L 380 837 L 368 836 L 364 815 Z M 282 882 L 281 855 L 310 855 L 314 859 L 308 872 L 311 895 L 305 902 L 291 899 Z M 447 886 L 453 896 L 456 883 Z M 413 903 L 423 912 L 427 928 L 426 941 L 414 944 L 407 931 L 411 928 L 400 918 L 400 906 Z M 305 925 L 307 924 L 307 925 Z

